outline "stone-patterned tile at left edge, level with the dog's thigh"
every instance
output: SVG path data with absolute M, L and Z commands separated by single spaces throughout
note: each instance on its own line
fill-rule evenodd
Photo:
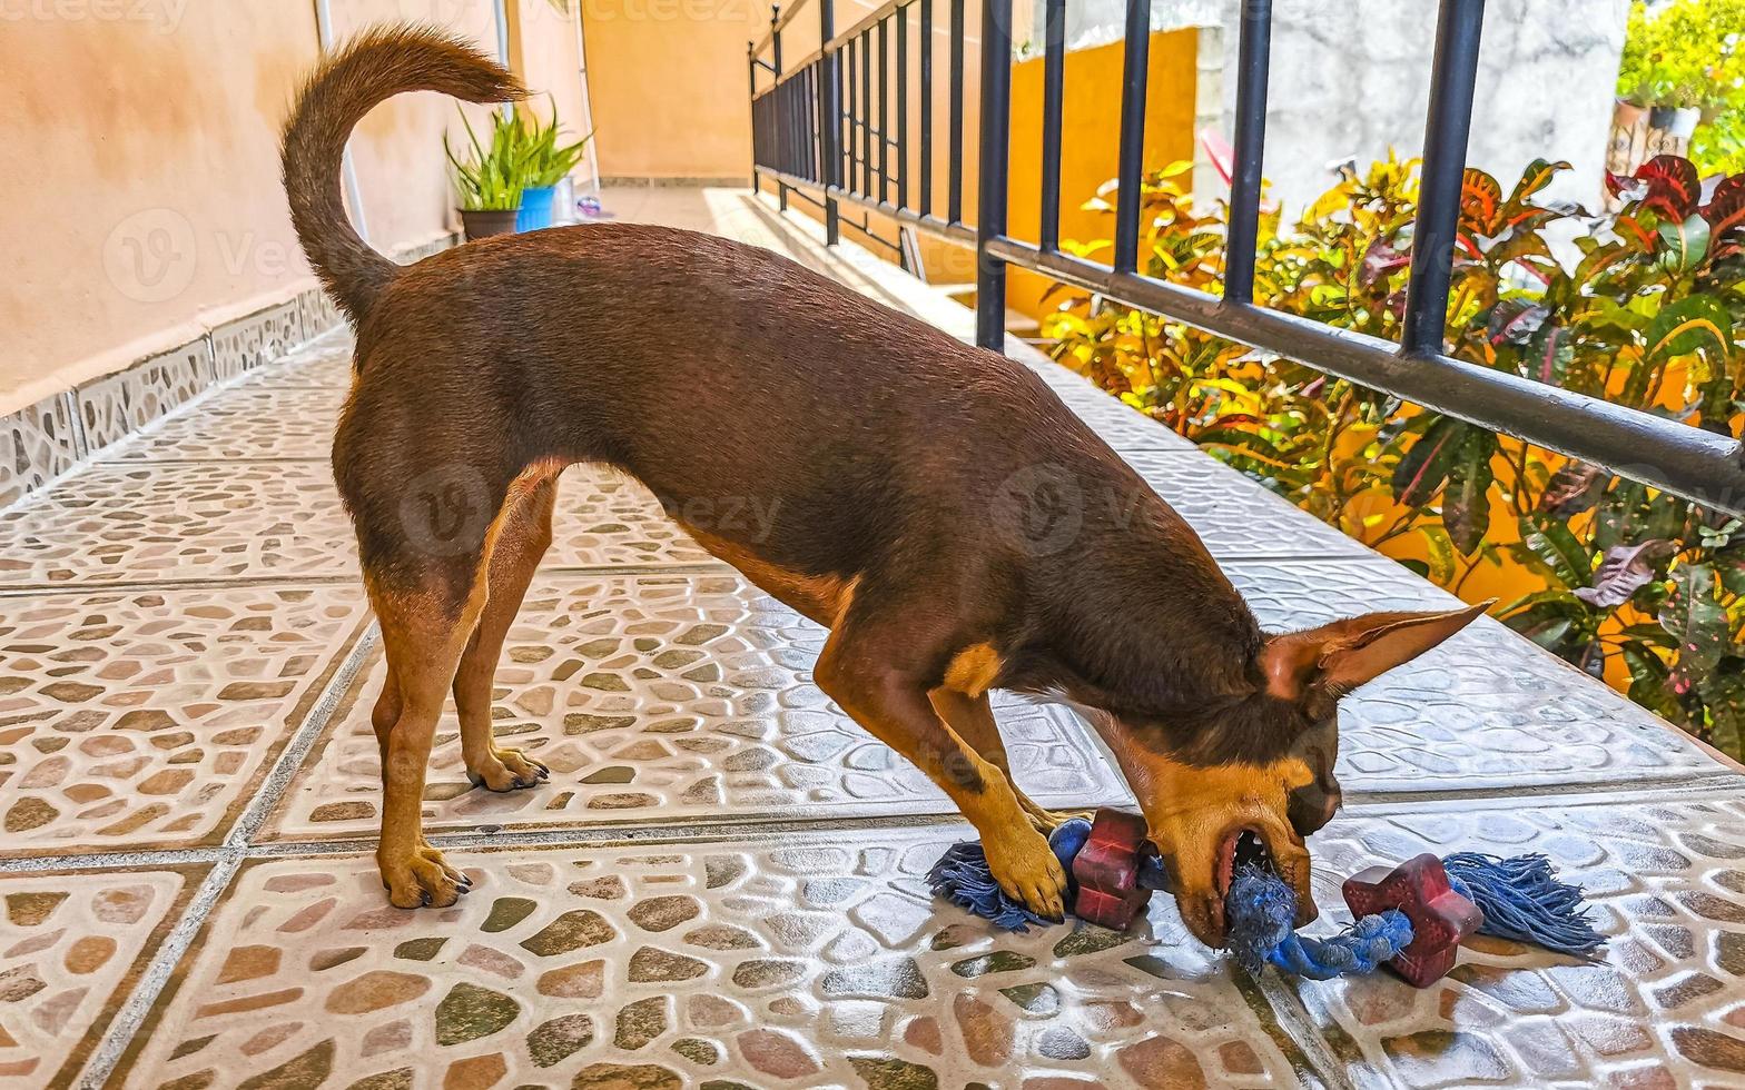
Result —
M 0 513 L 0 586 L 356 577 L 319 462 L 94 466 Z

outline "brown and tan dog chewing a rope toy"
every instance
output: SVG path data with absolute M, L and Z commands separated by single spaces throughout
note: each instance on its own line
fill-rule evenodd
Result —
M 1038 832 L 1054 816 L 1010 781 L 991 689 L 1087 712 L 1201 940 L 1223 940 L 1239 839 L 1312 916 L 1304 835 L 1340 800 L 1337 699 L 1480 609 L 1267 637 L 1038 377 L 757 248 L 602 225 L 394 265 L 347 223 L 339 178 L 352 126 L 403 91 L 522 94 L 461 42 L 377 30 L 316 72 L 284 133 L 297 234 L 358 330 L 333 473 L 387 654 L 373 724 L 393 903 L 450 905 L 468 884 L 419 823 L 450 687 L 476 783 L 546 774 L 492 738 L 490 682 L 558 471 L 604 462 L 831 630 L 818 687 L 951 797 L 1033 910 L 1064 909 Z M 1038 535 L 1049 497 L 1063 518 Z M 695 514 L 733 504 L 766 518 Z

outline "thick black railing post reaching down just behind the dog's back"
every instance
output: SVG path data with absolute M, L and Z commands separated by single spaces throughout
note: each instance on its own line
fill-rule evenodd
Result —
M 981 187 L 975 208 L 975 344 L 1005 351 L 1005 262 L 988 253 L 1005 237 L 1012 143 L 1012 0 L 982 0 Z

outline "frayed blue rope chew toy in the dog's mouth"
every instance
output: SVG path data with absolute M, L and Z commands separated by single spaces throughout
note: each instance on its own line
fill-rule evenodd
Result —
M 1099 813 L 1099 821 L 1105 813 L 1113 811 Z M 1119 813 L 1115 816 L 1122 818 Z M 1049 848 L 1070 875 L 1068 895 L 1080 905 L 1084 902 L 1078 898 L 1078 886 L 1085 869 L 1080 867 L 1080 874 L 1075 874 L 1075 862 L 1091 835 L 1091 821 L 1070 818 L 1049 837 Z M 1141 891 L 1167 889 L 1167 874 L 1155 853 L 1138 853 L 1133 863 L 1133 886 Z M 1424 872 L 1431 872 L 1431 877 Z M 1370 879 L 1370 874 L 1365 872 L 1347 882 L 1347 902 L 1365 903 L 1368 893 L 1389 882 L 1396 882 L 1393 893 L 1399 891 L 1399 882 L 1417 886 L 1427 882 L 1431 888 L 1452 891 L 1464 902 L 1447 900 L 1436 905 L 1441 912 L 1429 919 L 1431 926 L 1424 935 L 1426 944 L 1431 944 L 1427 950 L 1412 949 L 1419 935 L 1412 917 L 1401 909 L 1365 914 L 1338 935 L 1312 938 L 1295 931 L 1295 891 L 1270 870 L 1244 865 L 1237 870 L 1225 898 L 1230 950 L 1251 971 L 1272 964 L 1295 977 L 1330 980 L 1373 973 L 1389 964 L 1412 984 L 1426 987 L 1454 966 L 1455 945 L 1471 931 L 1572 956 L 1588 956 L 1605 942 L 1593 930 L 1588 909 L 1583 905 L 1583 891 L 1558 881 L 1543 855 L 1502 860 L 1459 851 L 1441 860 L 1419 856 L 1380 881 Z M 953 844 L 928 872 L 927 881 L 935 896 L 989 919 L 996 928 L 1026 931 L 1030 924 L 1052 923 L 1000 889 L 988 870 L 981 844 L 974 841 Z M 1143 907 L 1146 896 L 1148 893 L 1129 898 L 1129 903 Z M 1387 900 L 1386 893 L 1382 900 Z M 1445 919 L 1450 912 L 1455 917 L 1452 921 Z M 1438 933 L 1431 935 L 1431 930 Z

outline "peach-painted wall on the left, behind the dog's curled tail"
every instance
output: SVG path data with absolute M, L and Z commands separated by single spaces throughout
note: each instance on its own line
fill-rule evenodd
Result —
M 574 117 L 574 31 L 551 30 L 546 0 L 520 2 L 524 78 L 557 89 Z M 0 415 L 312 284 L 277 155 L 291 89 L 319 54 L 312 0 L 12 7 L 21 17 L 0 23 Z M 419 19 L 497 49 L 490 0 L 332 9 L 340 37 Z M 380 249 L 448 230 L 440 138 L 454 119 L 454 103 L 419 94 L 359 126 Z

